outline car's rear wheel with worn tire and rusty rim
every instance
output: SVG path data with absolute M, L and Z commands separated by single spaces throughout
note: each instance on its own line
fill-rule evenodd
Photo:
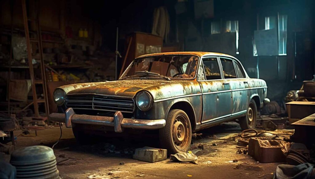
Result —
M 257 121 L 257 106 L 254 99 L 251 99 L 247 108 L 246 116 L 239 119 L 242 130 L 255 129 Z

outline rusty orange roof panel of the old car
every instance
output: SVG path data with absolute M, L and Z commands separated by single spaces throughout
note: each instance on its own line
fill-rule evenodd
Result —
M 159 55 L 197 55 L 199 57 L 209 55 L 209 56 L 225 56 L 225 57 L 235 58 L 231 55 L 216 53 L 216 52 L 163 52 L 163 53 L 141 55 L 141 56 L 138 56 L 137 58 L 147 57 L 147 56 L 159 56 Z

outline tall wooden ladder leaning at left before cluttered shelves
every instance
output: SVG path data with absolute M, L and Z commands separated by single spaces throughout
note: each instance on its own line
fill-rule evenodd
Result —
M 39 112 L 38 112 L 38 103 L 44 103 L 45 105 L 45 116 L 49 115 L 49 107 L 48 107 L 48 97 L 47 97 L 47 85 L 46 85 L 46 75 L 45 75 L 45 64 L 43 60 L 43 44 L 42 44 L 42 34 L 41 34 L 41 29 L 40 29 L 40 24 L 39 24 L 39 17 L 38 17 L 38 8 L 36 11 L 36 17 L 35 19 L 31 19 L 27 17 L 27 10 L 26 10 L 26 2 L 25 0 L 22 1 L 22 11 L 23 11 L 23 22 L 24 22 L 24 30 L 25 30 L 25 38 L 26 38 L 26 47 L 27 47 L 27 58 L 28 58 L 28 66 L 30 68 L 30 77 L 31 77 L 31 88 L 32 88 L 32 95 L 33 95 L 33 105 L 34 105 L 34 113 L 35 117 L 39 117 Z M 38 5 L 38 1 L 35 5 Z M 39 6 L 38 6 L 39 7 Z M 36 28 L 36 38 L 30 38 L 29 34 L 29 28 L 28 28 L 28 23 L 29 22 L 34 22 L 37 26 Z M 32 44 L 37 44 L 38 46 L 38 51 L 39 51 L 39 60 L 40 63 L 40 71 L 41 71 L 41 77 L 40 80 L 35 80 L 34 76 L 34 67 L 32 63 L 32 59 L 35 59 L 35 57 L 32 56 Z M 38 61 L 37 61 L 38 62 Z M 37 93 L 36 93 L 36 85 L 39 84 L 43 88 L 43 99 L 38 99 L 37 98 Z

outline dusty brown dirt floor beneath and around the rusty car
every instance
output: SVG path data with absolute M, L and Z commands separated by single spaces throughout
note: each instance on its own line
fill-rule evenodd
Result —
M 281 130 L 277 133 L 292 134 Z M 34 132 L 31 131 L 31 134 Z M 237 123 L 221 125 L 199 131 L 201 137 L 192 140 L 191 150 L 198 156 L 198 165 L 160 161 L 148 163 L 132 159 L 132 151 L 144 146 L 157 146 L 152 136 L 106 138 L 94 145 L 78 145 L 72 129 L 62 127 L 62 138 L 55 145 L 57 167 L 61 178 L 272 178 L 280 163 L 259 163 L 250 155 L 237 154 L 234 137 L 241 133 Z M 15 135 L 21 134 L 16 131 Z M 37 131 L 37 136 L 18 136 L 16 148 L 30 145 L 52 145 L 59 139 L 59 127 Z M 207 145 L 201 150 L 198 145 Z M 10 155 L 5 155 L 9 161 Z M 233 160 L 237 162 L 233 162 Z M 124 162 L 124 165 L 120 165 Z

